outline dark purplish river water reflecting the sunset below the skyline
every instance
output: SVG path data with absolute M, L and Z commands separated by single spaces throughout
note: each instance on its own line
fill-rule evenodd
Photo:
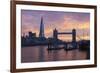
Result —
M 78 49 L 65 51 L 64 49 L 48 51 L 47 46 L 22 47 L 21 62 L 46 62 L 46 61 L 67 61 L 85 60 L 86 51 Z

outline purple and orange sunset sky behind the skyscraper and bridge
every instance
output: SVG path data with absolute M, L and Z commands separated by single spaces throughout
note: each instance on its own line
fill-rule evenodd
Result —
M 77 40 L 89 39 L 90 13 L 21 10 L 22 34 L 29 31 L 39 35 L 40 21 L 43 17 L 45 37 L 52 37 L 53 29 L 58 32 L 71 32 L 76 29 Z M 59 35 L 59 39 L 71 40 L 71 35 Z

